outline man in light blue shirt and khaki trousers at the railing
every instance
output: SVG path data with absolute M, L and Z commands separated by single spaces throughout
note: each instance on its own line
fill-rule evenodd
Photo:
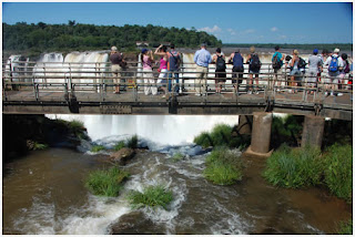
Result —
M 206 94 L 207 90 L 207 74 L 209 74 L 209 64 L 212 62 L 211 53 L 206 50 L 206 44 L 202 43 L 201 49 L 197 50 L 193 56 L 193 61 L 196 63 L 196 80 L 195 89 L 196 95 L 201 96 Z

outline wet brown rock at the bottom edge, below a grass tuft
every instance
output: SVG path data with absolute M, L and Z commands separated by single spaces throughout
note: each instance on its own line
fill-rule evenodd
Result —
M 142 212 L 135 210 L 124 214 L 108 227 L 110 235 L 136 235 L 136 234 L 162 234 L 161 227 L 146 219 Z

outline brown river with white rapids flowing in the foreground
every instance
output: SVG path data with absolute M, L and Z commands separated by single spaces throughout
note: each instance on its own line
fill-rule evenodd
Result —
M 178 151 L 191 155 L 173 161 Z M 4 164 L 3 234 L 108 234 L 110 224 L 132 212 L 128 192 L 153 184 L 170 188 L 174 200 L 168 210 L 143 209 L 146 221 L 135 225 L 135 233 L 334 234 L 338 221 L 352 217 L 352 206 L 325 189 L 268 185 L 261 176 L 264 159 L 256 157 L 242 155 L 242 182 L 213 185 L 202 175 L 206 154 L 185 145 L 139 152 L 124 167 L 131 177 L 115 198 L 84 188 L 89 172 L 109 166 L 104 154 L 31 152 Z

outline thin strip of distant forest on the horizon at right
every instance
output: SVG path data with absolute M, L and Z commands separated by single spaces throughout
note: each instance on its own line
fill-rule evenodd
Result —
M 329 52 L 333 52 L 335 48 L 339 48 L 342 51 L 353 51 L 352 43 L 312 43 L 312 44 L 288 44 L 288 43 L 223 43 L 223 47 L 233 47 L 233 48 L 275 48 L 280 45 L 281 49 L 297 49 L 297 50 L 314 50 L 315 48 L 318 50 L 326 49 Z

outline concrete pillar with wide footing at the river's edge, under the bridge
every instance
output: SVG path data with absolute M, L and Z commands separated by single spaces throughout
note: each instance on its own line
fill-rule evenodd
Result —
M 251 150 L 254 153 L 266 154 L 270 152 L 271 125 L 273 114 L 265 112 L 253 113 L 253 132 Z

